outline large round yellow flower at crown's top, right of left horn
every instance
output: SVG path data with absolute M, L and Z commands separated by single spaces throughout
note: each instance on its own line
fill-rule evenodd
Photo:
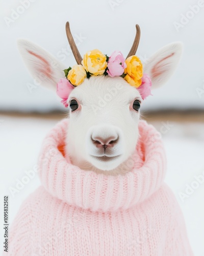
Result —
M 97 49 L 89 51 L 84 55 L 82 65 L 87 72 L 93 75 L 102 75 L 107 67 L 106 55 Z

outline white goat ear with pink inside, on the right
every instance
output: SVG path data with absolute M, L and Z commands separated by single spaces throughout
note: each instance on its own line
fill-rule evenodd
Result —
M 182 52 L 183 44 L 172 42 L 147 59 L 144 73 L 151 77 L 152 89 L 162 86 L 170 78 L 179 63 Z

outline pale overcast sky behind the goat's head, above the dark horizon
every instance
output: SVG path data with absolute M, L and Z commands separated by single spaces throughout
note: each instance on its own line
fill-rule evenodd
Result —
M 191 11 L 198 3 L 204 6 L 202 0 L 31 1 L 24 11 L 20 0 L 1 1 L 0 110 L 63 109 L 53 92 L 37 87 L 30 93 L 27 86 L 34 81 L 23 65 L 16 40 L 32 40 L 67 67 L 73 66 L 75 60 L 70 51 L 68 56 L 62 53 L 64 48 L 69 49 L 67 20 L 74 37 L 84 37 L 81 42 L 76 40 L 82 56 L 95 48 L 108 55 L 120 50 L 126 56 L 135 37 L 136 23 L 141 27 L 137 54 L 143 62 L 166 44 L 182 41 L 184 54 L 176 72 L 163 88 L 154 91 L 154 97 L 149 97 L 143 109 L 204 109 L 204 7 Z M 13 22 L 8 21 L 14 11 L 22 13 Z M 184 20 L 182 15 L 190 19 Z M 175 23 L 181 24 L 177 30 Z

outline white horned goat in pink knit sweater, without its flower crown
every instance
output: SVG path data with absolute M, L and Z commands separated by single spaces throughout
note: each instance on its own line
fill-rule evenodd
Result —
M 128 56 L 139 44 L 136 29 Z M 80 65 L 68 23 L 66 31 Z M 34 78 L 56 90 L 64 65 L 32 42 L 19 40 L 18 46 Z M 153 88 L 170 77 L 181 53 L 174 42 L 147 60 L 144 72 Z M 42 185 L 14 220 L 9 255 L 192 256 L 181 210 L 164 183 L 163 145 L 154 140 L 154 127 L 139 121 L 141 91 L 120 76 L 94 75 L 70 85 L 63 98 L 69 121 L 60 121 L 44 140 Z

